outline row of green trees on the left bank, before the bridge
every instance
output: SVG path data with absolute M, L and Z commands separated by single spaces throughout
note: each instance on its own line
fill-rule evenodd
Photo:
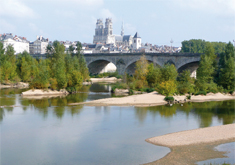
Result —
M 77 91 L 89 79 L 89 70 L 80 54 L 81 43 L 76 46 L 77 53 L 72 47 L 65 53 L 64 45 L 54 41 L 47 46 L 46 59 L 35 59 L 26 51 L 16 56 L 12 45 L 5 50 L 0 43 L 1 83 L 23 81 L 29 82 L 30 88 Z

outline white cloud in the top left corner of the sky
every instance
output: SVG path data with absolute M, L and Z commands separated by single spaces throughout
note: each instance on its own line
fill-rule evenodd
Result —
M 31 8 L 18 0 L 1 0 L 0 15 L 17 18 L 33 18 L 36 16 Z

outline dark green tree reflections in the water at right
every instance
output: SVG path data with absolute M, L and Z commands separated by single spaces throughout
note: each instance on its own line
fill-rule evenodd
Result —
M 223 124 L 231 124 L 235 121 L 235 101 L 212 101 L 212 102 L 189 102 L 175 104 L 173 106 L 137 107 L 136 117 L 140 122 L 146 119 L 147 113 L 153 117 L 161 115 L 164 118 L 172 118 L 177 112 L 190 113 L 198 118 L 199 127 L 209 127 L 212 125 L 213 117 L 219 119 Z

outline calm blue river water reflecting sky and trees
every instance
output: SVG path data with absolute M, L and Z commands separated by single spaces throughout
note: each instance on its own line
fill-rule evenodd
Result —
M 169 148 L 145 139 L 178 131 L 235 122 L 234 101 L 133 106 L 67 106 L 113 97 L 110 85 L 85 86 L 66 97 L 21 97 L 26 89 L 0 90 L 2 165 L 143 164 Z M 234 143 L 218 146 L 228 158 L 204 163 L 235 163 Z

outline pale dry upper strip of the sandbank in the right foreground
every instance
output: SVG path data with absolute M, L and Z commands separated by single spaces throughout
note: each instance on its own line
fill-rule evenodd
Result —
M 146 141 L 156 145 L 175 147 L 213 143 L 229 139 L 235 140 L 235 124 L 176 132 L 149 138 Z

